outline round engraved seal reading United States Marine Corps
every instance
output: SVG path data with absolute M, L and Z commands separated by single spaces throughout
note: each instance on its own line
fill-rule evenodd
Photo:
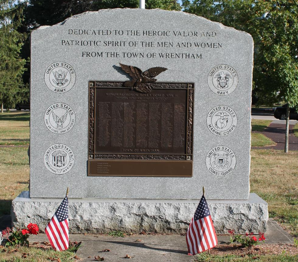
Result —
M 218 105 L 211 109 L 207 115 L 207 127 L 217 136 L 227 136 L 237 125 L 237 115 L 227 105 Z

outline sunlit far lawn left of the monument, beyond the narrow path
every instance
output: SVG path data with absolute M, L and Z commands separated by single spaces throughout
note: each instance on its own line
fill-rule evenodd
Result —
M 0 113 L 0 145 L 29 145 L 30 112 Z

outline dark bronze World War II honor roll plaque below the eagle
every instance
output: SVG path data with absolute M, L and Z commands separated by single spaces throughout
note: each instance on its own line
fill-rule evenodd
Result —
M 193 83 L 146 86 L 89 81 L 88 176 L 192 176 Z

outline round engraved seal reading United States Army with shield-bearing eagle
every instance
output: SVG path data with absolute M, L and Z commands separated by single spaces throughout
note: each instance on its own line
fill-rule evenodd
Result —
M 65 93 L 75 85 L 75 70 L 65 62 L 55 62 L 44 73 L 47 87 L 55 93 Z

